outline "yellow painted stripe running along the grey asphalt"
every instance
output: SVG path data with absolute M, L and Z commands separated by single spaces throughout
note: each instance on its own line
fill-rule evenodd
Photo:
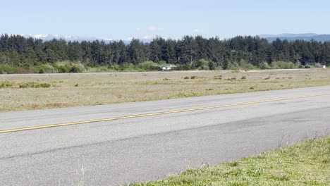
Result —
M 115 118 L 103 118 L 103 119 L 96 119 L 96 120 L 82 120 L 78 122 L 71 122 L 71 123 L 59 123 L 59 124 L 53 124 L 53 125 L 40 125 L 40 126 L 34 126 L 34 127 L 27 127 L 27 128 L 14 128 L 14 129 L 8 129 L 8 130 L 0 130 L 0 133 L 6 133 L 6 132 L 18 132 L 23 130 L 36 130 L 36 129 L 42 129 L 42 128 L 55 128 L 55 127 L 61 127 L 61 126 L 67 126 L 67 125 L 80 125 L 85 123 L 95 123 L 95 122 L 101 122 L 101 121 L 107 121 L 107 120 L 121 120 L 121 119 L 128 119 L 128 118 L 140 118 L 145 116 L 157 116 L 157 115 L 164 115 L 169 113 L 182 113 L 182 112 L 188 112 L 188 111 L 201 111 L 201 110 L 207 110 L 207 109 L 219 109 L 229 106 L 242 106 L 242 105 L 249 105 L 249 104 L 261 104 L 265 102 L 272 102 L 272 101 L 283 101 L 283 100 L 289 100 L 289 99 L 302 99 L 307 97 L 320 97 L 320 96 L 326 96 L 330 95 L 330 93 L 325 94 L 312 94 L 307 96 L 299 96 L 299 97 L 286 97 L 286 98 L 279 98 L 279 99 L 267 99 L 267 100 L 261 100 L 261 101 L 249 101 L 249 102 L 243 102 L 238 104 L 226 104 L 226 105 L 220 105 L 220 106 L 207 106 L 207 107 L 200 107 L 200 108 L 193 108 L 193 109 L 183 109 L 183 110 L 176 110 L 176 111 L 164 111 L 159 113 L 144 113 L 139 115 L 132 115 L 132 116 L 121 116 L 121 117 L 115 117 Z

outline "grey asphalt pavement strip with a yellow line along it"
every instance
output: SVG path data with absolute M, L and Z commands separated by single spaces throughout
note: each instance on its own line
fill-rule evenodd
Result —
M 0 185 L 122 185 L 329 134 L 330 86 L 0 113 Z

